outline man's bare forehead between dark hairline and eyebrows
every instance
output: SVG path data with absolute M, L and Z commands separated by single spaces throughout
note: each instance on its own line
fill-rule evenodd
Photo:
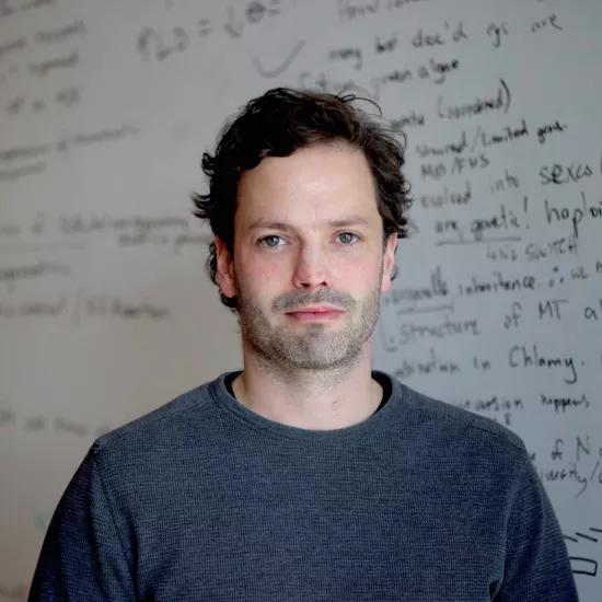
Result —
M 257 217 L 304 222 L 336 219 L 352 211 L 379 219 L 374 181 L 363 152 L 320 144 L 289 157 L 267 157 L 241 176 L 236 221 Z

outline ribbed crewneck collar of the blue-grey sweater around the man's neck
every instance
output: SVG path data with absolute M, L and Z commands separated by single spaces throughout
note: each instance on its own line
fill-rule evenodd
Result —
M 225 380 L 229 377 L 236 378 L 241 373 L 242 370 L 223 372 L 216 380 L 211 381 L 211 383 L 209 383 L 211 396 L 220 409 L 234 415 L 251 428 L 280 438 L 283 437 L 288 439 L 305 439 L 314 441 L 338 441 L 363 438 L 371 436 L 372 433 L 378 433 L 378 431 L 389 426 L 395 415 L 396 407 L 403 403 L 403 390 L 401 382 L 397 379 L 392 378 L 386 372 L 372 370 L 372 378 L 377 380 L 389 380 L 391 383 L 391 397 L 379 412 L 372 414 L 366 420 L 357 425 L 338 429 L 315 430 L 292 427 L 277 422 L 276 420 L 270 420 L 269 418 L 253 412 L 230 394 L 225 385 Z

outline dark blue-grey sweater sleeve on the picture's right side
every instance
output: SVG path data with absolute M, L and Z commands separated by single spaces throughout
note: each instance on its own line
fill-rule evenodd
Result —
M 525 454 L 508 522 L 503 581 L 497 602 L 578 602 L 558 519 Z

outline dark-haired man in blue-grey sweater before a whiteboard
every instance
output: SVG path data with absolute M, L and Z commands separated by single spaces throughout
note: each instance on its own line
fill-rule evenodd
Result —
M 577 600 L 521 439 L 371 370 L 409 200 L 352 100 L 271 90 L 205 154 L 244 369 L 94 442 L 30 600 Z

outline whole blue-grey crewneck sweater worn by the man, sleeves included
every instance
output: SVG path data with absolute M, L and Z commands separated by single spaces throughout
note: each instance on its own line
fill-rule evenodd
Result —
M 30 600 L 574 602 L 519 437 L 373 372 L 359 425 L 306 430 L 221 374 L 94 442 Z

